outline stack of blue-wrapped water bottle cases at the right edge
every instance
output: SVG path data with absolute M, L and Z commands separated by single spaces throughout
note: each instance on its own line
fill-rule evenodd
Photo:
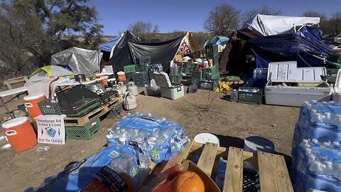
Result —
M 341 191 L 341 103 L 305 102 L 293 136 L 296 191 Z

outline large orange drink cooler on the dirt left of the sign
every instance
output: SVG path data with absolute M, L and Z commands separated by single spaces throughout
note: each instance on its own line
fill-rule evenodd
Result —
M 37 144 L 37 137 L 27 117 L 18 117 L 2 124 L 14 151 L 26 151 Z

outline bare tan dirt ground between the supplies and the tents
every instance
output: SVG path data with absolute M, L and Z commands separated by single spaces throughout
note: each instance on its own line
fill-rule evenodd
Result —
M 213 99 L 210 110 L 207 98 Z M 243 148 L 249 136 L 261 136 L 275 144 L 276 152 L 290 156 L 293 129 L 298 118 L 298 107 L 271 105 L 247 105 L 229 102 L 229 96 L 222 93 L 198 90 L 195 94 L 185 94 L 172 101 L 162 97 L 138 95 L 137 111 L 162 115 L 183 126 L 190 139 L 196 134 L 209 132 L 220 138 L 220 146 Z M 8 104 L 11 110 L 23 101 Z M 0 118 L 5 114 L 0 107 Z M 0 191 L 25 191 L 40 186 L 45 178 L 55 176 L 65 166 L 90 156 L 106 144 L 107 128 L 119 119 L 103 119 L 102 129 L 90 141 L 67 140 L 65 145 L 48 145 L 49 151 L 36 151 L 37 144 L 28 151 L 16 153 L 12 149 L 0 151 Z M 0 136 L 4 132 L 0 132 Z M 1 141 L 0 146 L 6 144 Z

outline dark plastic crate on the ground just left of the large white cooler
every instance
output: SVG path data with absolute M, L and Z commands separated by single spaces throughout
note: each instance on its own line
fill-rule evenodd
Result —
M 252 92 L 258 90 L 257 92 Z M 262 91 L 256 87 L 239 87 L 238 102 L 261 105 Z

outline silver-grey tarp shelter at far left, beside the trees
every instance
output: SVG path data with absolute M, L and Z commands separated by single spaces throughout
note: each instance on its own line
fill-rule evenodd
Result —
M 84 48 L 68 48 L 51 56 L 51 65 L 68 65 L 76 74 L 90 74 L 99 70 L 103 53 Z

